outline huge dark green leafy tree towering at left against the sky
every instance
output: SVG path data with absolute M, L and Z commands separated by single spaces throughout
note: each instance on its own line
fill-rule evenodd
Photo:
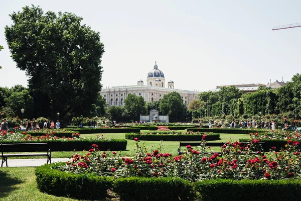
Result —
M 99 32 L 74 14 L 44 13 L 33 5 L 10 16 L 6 40 L 17 67 L 29 77 L 35 116 L 88 115 L 101 90 Z

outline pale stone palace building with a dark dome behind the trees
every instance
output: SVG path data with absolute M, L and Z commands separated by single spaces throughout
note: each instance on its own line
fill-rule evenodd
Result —
M 143 96 L 146 102 L 154 102 L 161 100 L 161 98 L 170 92 L 177 91 L 183 98 L 183 103 L 188 106 L 192 100 L 199 98 L 199 91 L 189 91 L 182 89 L 175 89 L 174 81 L 168 81 L 168 88 L 165 88 L 165 75 L 158 68 L 157 61 L 155 62 L 154 69 L 147 73 L 146 85 L 140 79 L 137 85 L 131 86 L 113 86 L 103 88 L 100 94 L 104 97 L 105 102 L 109 106 L 123 106 L 124 99 L 129 93 L 137 96 Z

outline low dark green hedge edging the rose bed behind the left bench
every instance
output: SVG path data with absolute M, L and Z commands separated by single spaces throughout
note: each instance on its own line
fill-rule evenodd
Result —
M 110 141 L 105 140 L 93 140 L 93 139 L 83 139 L 83 140 L 39 140 L 39 141 L 5 141 L 1 142 L 3 144 L 11 143 L 41 143 L 47 142 L 48 147 L 51 148 L 51 151 L 83 151 L 89 150 L 92 144 L 97 144 L 98 149 L 102 151 L 113 150 L 120 151 L 126 150 L 127 141 L 124 139 L 111 139 Z M 20 152 L 22 150 L 16 149 L 14 152 Z

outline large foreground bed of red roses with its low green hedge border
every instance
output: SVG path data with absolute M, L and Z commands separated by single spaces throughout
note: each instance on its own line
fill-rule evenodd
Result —
M 159 150 L 147 152 L 139 139 L 133 158 L 100 152 L 95 144 L 92 147 L 87 155 L 76 154 L 67 163 L 38 167 L 38 188 L 85 199 L 105 197 L 106 190 L 112 189 L 121 200 L 266 200 L 267 196 L 296 200 L 301 195 L 299 154 L 290 154 L 298 151 L 293 144 L 279 154 L 270 151 L 262 157 L 251 154 L 256 141 L 243 148 L 239 142 L 229 142 L 223 147 L 223 157 L 202 156 L 204 147 L 196 151 L 191 146 L 186 154 L 175 157 Z M 286 192 L 280 196 L 279 189 Z

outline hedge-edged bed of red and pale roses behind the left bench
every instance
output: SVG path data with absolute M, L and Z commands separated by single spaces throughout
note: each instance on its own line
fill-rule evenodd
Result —
M 0 142 L 4 144 L 10 143 L 36 143 L 47 142 L 52 151 L 73 151 L 73 150 L 89 150 L 91 144 L 99 144 L 100 150 L 126 150 L 126 140 L 103 138 L 79 137 L 78 133 L 72 133 L 72 137 L 59 138 L 55 133 L 49 133 L 42 136 L 31 136 L 27 132 L 1 132 Z M 15 150 L 20 151 L 20 150 Z

